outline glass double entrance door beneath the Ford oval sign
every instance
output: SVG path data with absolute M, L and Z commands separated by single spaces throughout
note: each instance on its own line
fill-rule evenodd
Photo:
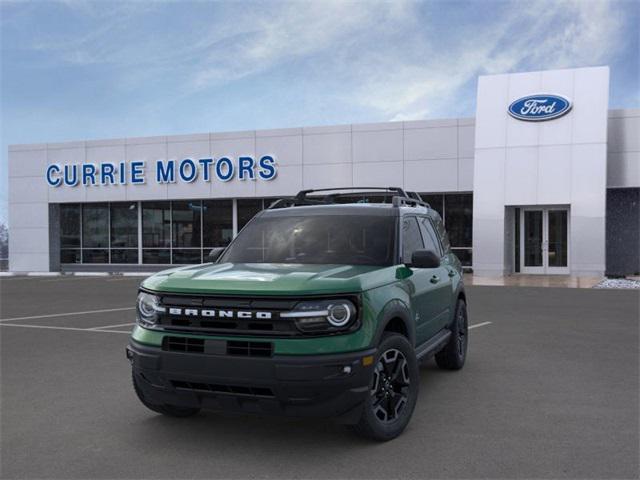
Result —
M 520 232 L 521 273 L 569 273 L 568 209 L 523 208 Z

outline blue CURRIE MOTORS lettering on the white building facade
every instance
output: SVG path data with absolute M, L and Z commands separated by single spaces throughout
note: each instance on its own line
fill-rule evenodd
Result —
M 147 171 L 149 170 L 149 172 Z M 157 160 L 149 167 L 144 160 L 131 162 L 73 163 L 47 165 L 46 179 L 51 187 L 143 185 L 150 178 L 155 183 L 192 183 L 195 181 L 228 182 L 238 180 L 273 180 L 276 161 L 272 155 L 259 159 L 245 156 L 234 159 L 201 158 L 193 160 Z

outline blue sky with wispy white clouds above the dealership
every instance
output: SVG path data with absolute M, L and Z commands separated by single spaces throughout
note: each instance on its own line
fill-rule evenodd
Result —
M 11 144 L 473 116 L 478 75 L 611 68 L 640 106 L 640 2 L 0 0 Z

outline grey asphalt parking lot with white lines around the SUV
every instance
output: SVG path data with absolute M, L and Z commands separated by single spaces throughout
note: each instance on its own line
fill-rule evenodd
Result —
M 376 444 L 147 411 L 124 355 L 139 281 L 0 280 L 2 478 L 638 478 L 638 291 L 469 287 L 466 367 L 422 366 L 408 429 Z

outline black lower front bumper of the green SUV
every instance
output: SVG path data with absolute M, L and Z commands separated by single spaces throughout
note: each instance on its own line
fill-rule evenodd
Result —
M 213 410 L 337 417 L 353 423 L 368 395 L 375 349 L 332 355 L 236 357 L 164 351 L 131 340 L 127 358 L 145 399 Z

